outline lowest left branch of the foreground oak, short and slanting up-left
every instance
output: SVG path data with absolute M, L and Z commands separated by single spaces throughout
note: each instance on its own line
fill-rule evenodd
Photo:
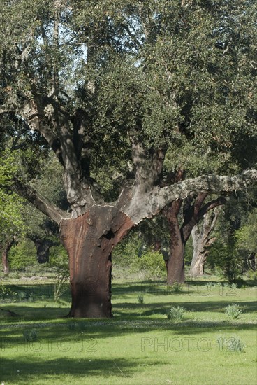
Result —
M 25 183 L 22 183 L 19 179 L 15 178 L 13 183 L 13 190 L 15 193 L 21 195 L 26 198 L 31 204 L 34 205 L 37 209 L 43 212 L 43 214 L 50 216 L 53 221 L 58 224 L 61 222 L 61 219 L 71 218 L 71 215 L 59 209 L 51 202 L 47 201 L 44 197 L 42 197 L 34 188 L 31 188 Z

